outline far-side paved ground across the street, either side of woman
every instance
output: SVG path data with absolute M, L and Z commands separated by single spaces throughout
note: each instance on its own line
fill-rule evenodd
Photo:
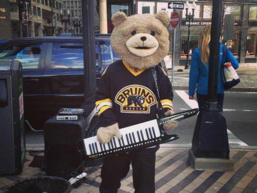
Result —
M 182 69 L 183 72 L 177 72 L 178 69 Z M 172 81 L 174 90 L 188 90 L 189 71 L 189 69 L 184 69 L 184 66 L 174 66 Z M 257 92 L 257 63 L 239 64 L 237 72 L 239 73 L 240 83 L 227 91 Z M 172 70 L 168 70 L 168 76 L 171 79 Z

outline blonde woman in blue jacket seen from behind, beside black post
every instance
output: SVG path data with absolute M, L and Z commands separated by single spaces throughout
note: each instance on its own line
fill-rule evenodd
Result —
M 211 39 L 211 25 L 206 25 L 201 37 L 201 45 L 194 49 L 189 74 L 189 99 L 194 99 L 194 92 L 197 85 L 197 102 L 198 106 L 202 108 L 207 101 L 208 93 L 208 75 L 209 75 L 209 56 L 210 56 L 210 39 Z M 227 55 L 223 56 L 223 44 L 220 44 L 220 61 L 217 83 L 217 98 L 218 103 L 223 108 L 224 100 L 224 82 L 222 77 L 222 61 L 231 62 L 234 69 L 239 67 L 239 63 L 233 56 L 231 51 L 227 49 Z M 226 58 L 223 58 L 226 57 Z M 226 60 L 223 60 L 226 59 Z

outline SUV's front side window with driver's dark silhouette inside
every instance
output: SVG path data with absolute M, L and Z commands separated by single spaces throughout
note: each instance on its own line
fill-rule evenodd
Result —
M 23 69 L 37 69 L 42 44 L 21 44 L 10 46 L 0 52 L 0 59 L 15 59 L 21 62 Z

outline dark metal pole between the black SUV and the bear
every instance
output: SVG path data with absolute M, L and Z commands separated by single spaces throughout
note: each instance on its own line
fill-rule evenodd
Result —
M 96 92 L 96 54 L 95 54 L 95 32 L 94 32 L 94 1 L 82 1 L 83 22 L 83 57 L 84 57 L 84 87 L 85 99 Z

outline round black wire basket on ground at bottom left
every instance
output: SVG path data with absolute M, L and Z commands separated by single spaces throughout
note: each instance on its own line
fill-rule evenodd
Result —
M 5 189 L 5 193 L 69 193 L 70 182 L 53 176 L 39 176 L 17 181 Z

